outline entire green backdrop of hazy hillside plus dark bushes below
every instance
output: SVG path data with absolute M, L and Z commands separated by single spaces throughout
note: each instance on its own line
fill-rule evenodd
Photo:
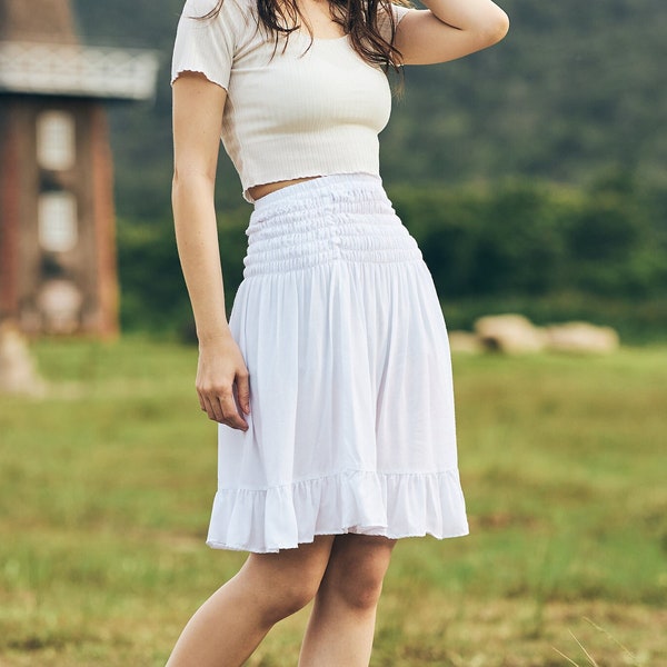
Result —
M 152 104 L 110 108 L 126 327 L 191 329 L 171 232 L 169 59 L 182 0 L 73 0 L 88 40 L 162 53 Z M 661 0 L 504 0 L 512 28 L 460 61 L 406 68 L 382 173 L 456 326 L 482 307 L 573 313 L 631 339 L 667 313 L 667 12 Z M 101 32 L 103 27 L 103 32 Z M 240 185 L 220 160 L 228 308 Z

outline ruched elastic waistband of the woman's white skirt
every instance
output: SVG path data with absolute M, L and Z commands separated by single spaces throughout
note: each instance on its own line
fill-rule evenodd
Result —
M 332 175 L 259 199 L 246 232 L 243 276 L 282 273 L 336 261 L 421 260 L 379 177 Z

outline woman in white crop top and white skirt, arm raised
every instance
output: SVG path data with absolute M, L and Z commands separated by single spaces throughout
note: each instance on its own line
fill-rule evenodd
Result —
M 188 0 L 179 23 L 173 211 L 199 402 L 219 424 L 208 544 L 250 555 L 169 667 L 241 665 L 312 599 L 299 665 L 368 665 L 396 540 L 467 534 L 445 323 L 377 137 L 384 66 L 462 57 L 508 21 L 490 0 L 385 1 Z M 220 135 L 255 202 L 229 323 Z

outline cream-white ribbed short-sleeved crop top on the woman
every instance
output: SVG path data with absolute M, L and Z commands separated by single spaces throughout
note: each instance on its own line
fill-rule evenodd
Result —
M 360 58 L 348 38 L 295 31 L 283 51 L 258 28 L 256 0 L 187 0 L 171 81 L 200 72 L 227 90 L 222 143 L 243 188 L 331 173 L 379 172 L 378 133 L 391 111 L 386 74 Z M 396 23 L 407 11 L 392 6 Z M 388 17 L 380 29 L 390 31 Z M 308 48 L 310 46 L 310 48 Z

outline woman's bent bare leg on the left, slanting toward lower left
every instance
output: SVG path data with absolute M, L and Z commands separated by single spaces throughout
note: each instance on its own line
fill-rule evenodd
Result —
M 279 554 L 251 554 L 239 573 L 192 616 L 167 667 L 237 667 L 271 626 L 315 596 L 334 536 Z

